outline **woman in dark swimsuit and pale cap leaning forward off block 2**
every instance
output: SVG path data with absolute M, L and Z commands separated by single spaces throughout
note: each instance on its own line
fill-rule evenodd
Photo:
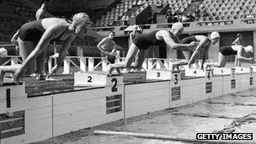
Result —
M 182 34 L 183 30 L 183 24 L 174 23 L 170 31 L 155 30 L 148 34 L 136 35 L 131 42 L 125 61 L 109 65 L 107 74 L 111 75 L 114 68 L 141 68 L 142 63 L 147 56 L 148 48 L 152 45 L 162 45 L 163 43 L 166 43 L 173 50 L 194 48 L 196 45 L 195 42 L 190 44 L 180 44 L 178 36 Z M 132 63 L 134 57 L 136 60 Z

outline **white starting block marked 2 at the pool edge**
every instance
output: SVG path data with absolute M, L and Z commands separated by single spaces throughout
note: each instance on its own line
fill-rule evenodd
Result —
M 106 72 L 76 72 L 74 74 L 75 86 L 110 86 L 123 84 L 123 76 L 107 76 Z

